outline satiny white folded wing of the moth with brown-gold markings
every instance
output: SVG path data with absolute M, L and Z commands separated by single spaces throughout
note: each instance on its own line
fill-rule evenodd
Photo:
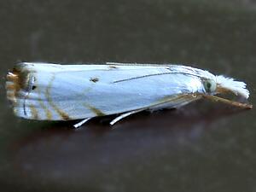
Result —
M 170 73 L 166 66 L 22 63 L 12 75 L 7 82 L 15 84 L 8 89 L 13 91 L 10 100 L 16 114 L 26 119 L 86 119 L 140 108 L 175 108 L 189 101 L 177 95 L 201 88 L 201 79 Z

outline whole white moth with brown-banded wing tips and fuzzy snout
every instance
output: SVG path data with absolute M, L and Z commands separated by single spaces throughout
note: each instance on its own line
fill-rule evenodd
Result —
M 7 98 L 17 116 L 38 120 L 87 120 L 119 114 L 110 124 L 143 110 L 179 108 L 207 97 L 240 108 L 218 93 L 248 98 L 246 84 L 205 70 L 181 65 L 128 64 L 58 65 L 21 62 L 7 75 Z

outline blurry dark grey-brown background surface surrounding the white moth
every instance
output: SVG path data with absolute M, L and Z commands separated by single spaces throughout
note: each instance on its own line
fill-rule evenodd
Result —
M 139 113 L 114 130 L 16 118 L 17 61 L 172 62 L 247 82 L 255 103 L 256 3 L 1 1 L 1 191 L 256 191 L 255 110 L 200 101 Z

